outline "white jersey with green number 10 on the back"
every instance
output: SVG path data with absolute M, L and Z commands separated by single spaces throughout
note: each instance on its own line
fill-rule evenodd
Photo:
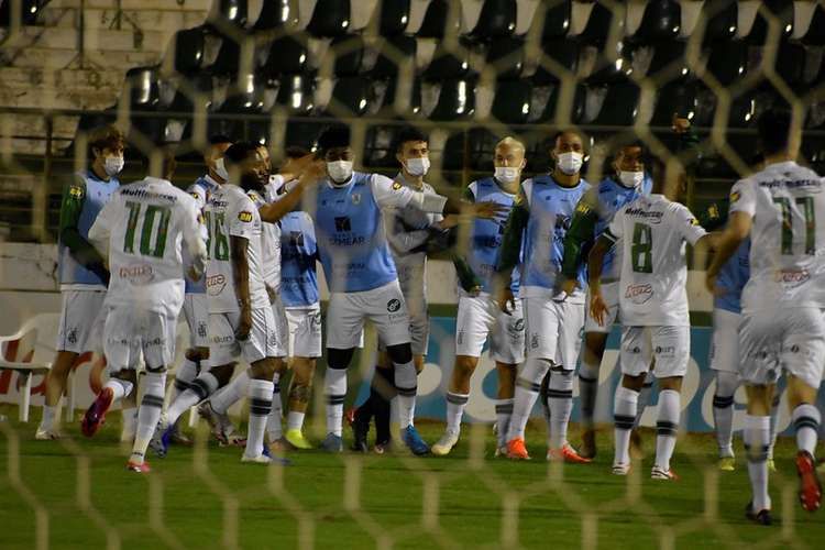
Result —
M 120 187 L 89 230 L 109 254 L 107 305 L 177 316 L 184 302 L 185 242 L 202 266 L 206 245 L 195 199 L 165 179 Z

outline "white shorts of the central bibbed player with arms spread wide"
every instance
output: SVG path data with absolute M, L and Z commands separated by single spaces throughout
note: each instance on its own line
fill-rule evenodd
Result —
M 367 319 L 385 345 L 409 343 L 409 315 L 398 280 L 363 293 L 332 293 L 327 310 L 327 348 L 358 348 Z

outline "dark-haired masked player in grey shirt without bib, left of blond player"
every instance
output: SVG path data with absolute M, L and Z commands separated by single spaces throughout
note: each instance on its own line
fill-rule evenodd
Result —
M 395 180 L 416 191 L 435 194 L 436 190 L 424 178 L 430 168 L 427 136 L 414 128 L 403 129 L 395 140 L 395 154 L 400 172 Z M 413 361 L 416 372 L 424 370 L 430 338 L 430 318 L 427 312 L 427 253 L 437 241 L 446 243 L 446 231 L 454 224 L 453 217 L 444 220 L 441 213 L 422 212 L 416 207 L 392 209 L 385 212 L 386 235 L 393 261 L 398 273 L 398 283 L 409 311 L 409 331 Z M 389 446 L 391 399 L 393 388 L 393 364 L 385 345 L 378 342 L 378 364 L 375 366 L 370 396 L 354 413 L 353 449 L 366 452 L 366 436 L 370 420 L 375 416 L 375 450 L 383 453 Z

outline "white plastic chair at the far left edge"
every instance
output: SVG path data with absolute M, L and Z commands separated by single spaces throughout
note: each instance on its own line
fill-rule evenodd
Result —
M 20 388 L 20 420 L 29 421 L 29 408 L 32 400 L 32 376 L 45 374 L 52 363 L 44 361 L 54 353 L 37 341 L 38 327 L 44 322 L 43 316 L 29 319 L 23 327 L 9 337 L 0 337 L 0 371 L 14 371 L 23 381 Z

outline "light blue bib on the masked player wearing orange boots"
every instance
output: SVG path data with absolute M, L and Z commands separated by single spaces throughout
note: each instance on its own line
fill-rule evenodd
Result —
M 524 297 L 529 296 L 530 288 L 556 289 L 564 255 L 564 234 L 570 229 L 579 199 L 588 188 L 590 184 L 583 178 L 574 187 L 562 187 L 549 175 L 535 177 L 521 184 L 530 210 L 522 249 Z M 578 279 L 580 288 L 584 288 L 584 266 L 579 270 Z

